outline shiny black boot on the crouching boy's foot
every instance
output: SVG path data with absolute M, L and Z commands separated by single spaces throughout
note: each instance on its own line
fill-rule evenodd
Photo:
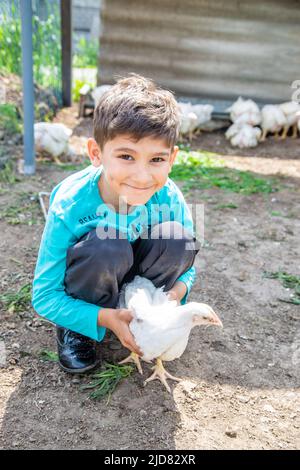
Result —
M 67 328 L 56 327 L 60 367 L 71 374 L 82 374 L 99 364 L 96 341 Z

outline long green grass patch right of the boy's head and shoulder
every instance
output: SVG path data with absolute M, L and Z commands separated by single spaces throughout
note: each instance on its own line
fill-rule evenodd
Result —
M 186 181 L 183 191 L 219 188 L 241 194 L 277 191 L 274 179 L 262 179 L 249 171 L 233 170 L 214 158 L 215 154 L 180 150 L 170 177 Z

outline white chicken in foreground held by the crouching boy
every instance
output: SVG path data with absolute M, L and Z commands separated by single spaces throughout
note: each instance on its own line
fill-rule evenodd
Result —
M 122 287 L 119 308 L 132 311 L 129 329 L 143 352 L 142 359 L 146 362 L 156 359 L 154 372 L 145 384 L 159 379 L 169 392 L 167 378 L 181 379 L 169 374 L 162 361 L 173 361 L 184 353 L 194 326 L 222 326 L 221 320 L 208 305 L 190 302 L 178 306 L 176 300 L 168 298 L 163 287 L 156 288 L 152 281 L 141 276 L 135 276 L 132 282 Z M 131 353 L 120 364 L 127 362 L 134 362 L 139 372 L 143 373 L 137 354 Z

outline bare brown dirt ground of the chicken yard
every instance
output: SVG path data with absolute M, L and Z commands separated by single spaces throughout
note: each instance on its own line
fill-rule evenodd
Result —
M 91 120 L 80 122 L 70 110 L 58 119 L 74 128 L 73 145 L 83 151 Z M 207 189 L 188 196 L 205 207 L 205 242 L 189 300 L 212 305 L 224 328 L 192 331 L 184 355 L 168 364 L 183 379 L 171 384 L 171 394 L 158 381 L 143 387 L 134 372 L 110 404 L 91 400 L 80 390 L 89 376 L 67 375 L 39 358 L 43 349 L 56 350 L 54 327 L 32 309 L 16 314 L 2 306 L 0 448 L 300 448 L 300 308 L 279 300 L 290 295 L 279 280 L 263 277 L 264 271 L 300 274 L 299 142 L 271 138 L 242 152 L 222 131 L 193 142 L 225 155 L 233 168 L 280 176 L 281 189 L 251 196 Z M 0 218 L 1 293 L 31 282 L 44 223 L 35 195 L 70 173 L 40 164 L 35 176 L 2 185 L 0 212 L 20 201 L 31 204 L 34 218 L 30 223 L 25 213 L 16 225 Z M 229 203 L 237 207 L 220 207 Z M 109 335 L 99 346 L 110 362 L 126 353 Z M 149 373 L 146 365 L 145 377 Z

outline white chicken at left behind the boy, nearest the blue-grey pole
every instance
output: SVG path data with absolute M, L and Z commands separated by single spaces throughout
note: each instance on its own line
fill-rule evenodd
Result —
M 48 154 L 60 165 L 61 155 L 70 155 L 69 138 L 73 131 L 64 124 L 37 122 L 34 124 L 34 142 L 37 153 Z

